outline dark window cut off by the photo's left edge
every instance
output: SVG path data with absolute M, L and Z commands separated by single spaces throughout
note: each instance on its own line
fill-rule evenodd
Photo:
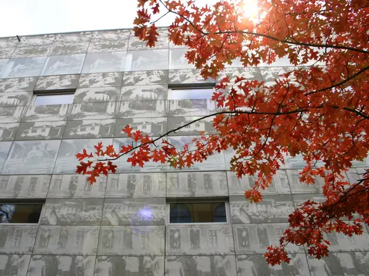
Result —
M 0 204 L 0 223 L 38 224 L 43 205 L 40 203 Z

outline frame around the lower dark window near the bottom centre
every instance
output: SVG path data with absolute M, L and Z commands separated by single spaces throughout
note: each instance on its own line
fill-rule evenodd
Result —
M 225 222 L 183 222 L 183 223 L 171 223 L 171 204 L 202 204 L 202 203 L 224 203 L 225 204 Z M 181 199 L 167 199 L 165 214 L 165 225 L 170 226 L 182 226 L 182 225 L 218 225 L 218 224 L 231 224 L 231 212 L 229 209 L 229 198 L 181 198 Z

